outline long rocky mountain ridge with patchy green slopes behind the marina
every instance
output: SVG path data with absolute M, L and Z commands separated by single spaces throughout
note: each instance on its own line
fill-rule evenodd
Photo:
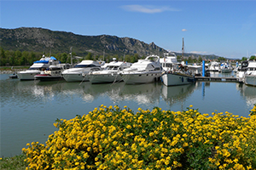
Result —
M 50 31 L 43 28 L 21 27 L 17 29 L 0 28 L 1 47 L 4 50 L 20 50 L 34 52 L 68 53 L 83 56 L 88 54 L 163 54 L 165 49 L 151 43 L 141 42 L 130 37 L 116 36 L 81 36 L 66 31 Z

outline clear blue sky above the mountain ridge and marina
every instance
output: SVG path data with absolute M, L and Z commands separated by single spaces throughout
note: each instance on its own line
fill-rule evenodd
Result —
M 180 52 L 256 55 L 256 1 L 1 0 L 2 28 L 42 27 L 154 42 Z

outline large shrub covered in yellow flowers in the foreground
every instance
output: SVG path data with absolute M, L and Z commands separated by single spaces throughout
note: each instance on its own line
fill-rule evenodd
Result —
M 255 169 L 256 115 L 95 108 L 57 120 L 46 144 L 22 149 L 27 169 Z M 252 110 L 255 112 L 255 106 Z

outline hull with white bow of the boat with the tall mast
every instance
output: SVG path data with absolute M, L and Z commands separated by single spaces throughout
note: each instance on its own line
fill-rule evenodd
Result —
M 195 82 L 195 77 L 181 73 L 164 73 L 161 78 L 166 86 L 178 86 Z

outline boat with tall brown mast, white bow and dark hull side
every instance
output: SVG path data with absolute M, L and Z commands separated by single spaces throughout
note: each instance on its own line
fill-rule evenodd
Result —
M 184 51 L 184 40 L 182 50 Z M 185 65 L 184 61 L 173 65 L 171 70 L 163 72 L 161 79 L 166 86 L 177 86 L 195 82 L 195 77 L 189 73 L 188 65 Z

